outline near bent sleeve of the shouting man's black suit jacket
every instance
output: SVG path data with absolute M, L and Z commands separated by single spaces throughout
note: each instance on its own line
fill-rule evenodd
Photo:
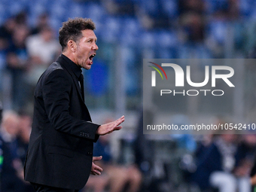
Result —
M 53 70 L 42 84 L 42 94 L 47 117 L 54 128 L 62 133 L 96 141 L 99 125 L 72 117 L 69 113 L 69 99 L 72 78 L 62 69 Z

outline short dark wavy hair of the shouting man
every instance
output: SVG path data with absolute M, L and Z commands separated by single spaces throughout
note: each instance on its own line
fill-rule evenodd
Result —
M 59 29 L 59 44 L 62 47 L 62 51 L 66 49 L 69 40 L 77 42 L 82 38 L 81 31 L 85 29 L 96 29 L 93 20 L 87 18 L 75 18 L 62 23 L 62 27 Z

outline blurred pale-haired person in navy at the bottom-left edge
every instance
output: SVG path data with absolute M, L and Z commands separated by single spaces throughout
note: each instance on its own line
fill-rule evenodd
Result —
M 19 117 L 14 111 L 5 111 L 0 130 L 3 164 L 1 173 L 1 191 L 24 191 L 23 166 L 17 157 L 17 134 Z

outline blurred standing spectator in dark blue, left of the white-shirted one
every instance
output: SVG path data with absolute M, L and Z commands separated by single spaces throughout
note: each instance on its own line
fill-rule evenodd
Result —
M 28 35 L 29 29 L 26 26 L 17 26 L 14 29 L 11 46 L 7 54 L 7 69 L 11 75 L 11 96 L 14 109 L 23 108 L 26 102 L 24 78 L 29 59 L 26 49 Z

